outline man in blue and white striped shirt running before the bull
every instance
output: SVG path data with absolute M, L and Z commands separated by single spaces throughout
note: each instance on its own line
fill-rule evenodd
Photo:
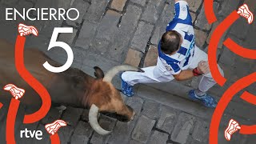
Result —
M 216 82 L 210 74 L 207 54 L 194 44 L 194 28 L 186 1 L 175 0 L 175 16 L 166 27 L 166 33 L 158 44 L 157 66 L 143 68 L 145 73 L 127 71 L 121 75 L 122 93 L 133 96 L 137 83 L 170 82 L 202 75 L 197 90 L 190 90 L 189 98 L 200 101 L 206 107 L 214 108 L 217 102 L 206 94 Z M 223 75 L 223 71 L 218 67 Z M 171 89 L 171 87 L 170 87 Z

